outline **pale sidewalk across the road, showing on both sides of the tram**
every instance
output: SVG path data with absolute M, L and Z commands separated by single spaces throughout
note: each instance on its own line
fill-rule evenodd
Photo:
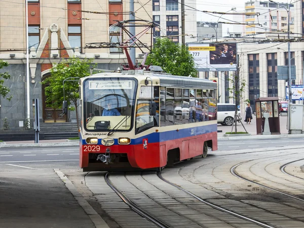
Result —
M 275 139 L 275 138 L 304 138 L 304 134 L 292 134 L 288 135 L 287 131 L 287 117 L 280 117 L 280 135 L 257 135 L 256 134 L 256 119 L 253 119 L 250 124 L 245 121 L 245 116 L 242 117 L 242 123 L 251 136 L 234 136 L 234 137 L 223 137 L 226 132 L 231 132 L 232 126 L 222 126 L 217 125 L 217 130 L 221 131 L 217 133 L 218 140 L 245 140 L 245 139 Z M 238 132 L 245 132 L 244 127 L 241 123 L 237 123 Z M 235 128 L 233 128 L 234 130 Z M 68 139 L 57 139 L 57 140 L 40 140 L 39 143 L 34 143 L 34 141 L 7 141 L 0 142 L 1 147 L 36 147 L 36 146 L 78 146 L 78 140 L 68 140 Z

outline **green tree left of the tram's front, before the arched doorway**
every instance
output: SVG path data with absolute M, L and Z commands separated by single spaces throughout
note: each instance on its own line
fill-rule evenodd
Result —
M 53 108 L 61 108 L 63 100 L 67 101 L 68 109 L 76 112 L 77 126 L 79 128 L 79 113 L 78 113 L 78 99 L 79 99 L 79 81 L 77 79 L 68 78 L 83 78 L 90 75 L 90 66 L 92 60 L 79 58 L 70 58 L 56 64 L 51 69 L 51 75 L 42 82 L 48 85 L 45 89 L 47 97 L 47 104 Z M 95 64 L 94 64 L 95 66 Z M 64 96 L 63 99 L 63 80 L 75 80 L 64 82 Z M 73 106 L 69 106 L 72 104 Z

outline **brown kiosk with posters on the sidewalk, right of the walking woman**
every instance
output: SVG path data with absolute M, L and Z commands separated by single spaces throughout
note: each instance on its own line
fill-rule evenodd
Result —
M 260 97 L 255 100 L 256 134 L 281 134 L 278 104 L 278 97 Z M 265 126 L 265 123 L 269 126 Z

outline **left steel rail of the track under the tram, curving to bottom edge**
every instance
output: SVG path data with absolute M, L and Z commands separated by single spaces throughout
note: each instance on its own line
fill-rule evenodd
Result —
M 139 214 L 140 216 L 146 218 L 147 220 L 149 220 L 150 222 L 153 222 L 154 224 L 156 224 L 157 226 L 161 227 L 161 228 L 169 228 L 170 226 L 165 224 L 164 222 L 162 222 L 161 220 L 155 218 L 154 216 L 148 214 L 147 212 L 145 212 L 144 210 L 142 210 L 141 208 L 139 208 L 136 204 L 134 204 L 131 200 L 129 200 L 121 191 L 119 191 L 119 189 L 111 182 L 111 180 L 109 179 L 109 175 L 110 172 L 107 172 L 104 176 L 104 179 L 106 181 L 106 183 L 113 189 L 114 192 L 116 192 L 116 194 L 132 209 L 134 210 L 137 214 Z

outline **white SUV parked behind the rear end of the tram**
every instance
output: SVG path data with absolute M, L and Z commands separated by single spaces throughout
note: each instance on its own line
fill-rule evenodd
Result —
M 235 104 L 218 103 L 217 104 L 217 123 L 221 124 L 221 125 L 231 126 L 234 123 L 235 111 L 236 111 Z M 239 116 L 240 120 L 242 120 L 240 110 L 238 110 L 238 116 Z

